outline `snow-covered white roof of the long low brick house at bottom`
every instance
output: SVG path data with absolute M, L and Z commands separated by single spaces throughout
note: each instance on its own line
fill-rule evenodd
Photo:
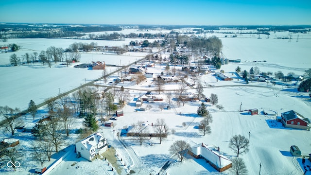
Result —
M 232 161 L 221 155 L 220 152 L 213 150 L 213 148 L 208 147 L 206 144 L 201 143 L 197 144 L 190 148 L 190 151 L 195 155 L 201 155 L 206 158 L 208 161 L 216 165 L 218 168 L 223 168 L 227 165 L 230 165 Z

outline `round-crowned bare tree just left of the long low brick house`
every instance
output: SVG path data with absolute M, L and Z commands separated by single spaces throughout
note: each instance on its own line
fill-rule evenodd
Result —
M 176 155 L 182 162 L 184 157 L 187 155 L 189 149 L 190 144 L 187 143 L 185 140 L 176 140 L 170 146 L 169 151 L 172 155 Z

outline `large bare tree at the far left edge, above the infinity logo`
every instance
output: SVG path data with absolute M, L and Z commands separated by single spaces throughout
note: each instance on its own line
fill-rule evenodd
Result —
M 0 116 L 4 117 L 7 121 L 7 124 L 11 130 L 12 136 L 14 136 L 14 133 L 16 131 L 16 126 L 21 124 L 21 121 L 17 120 L 17 117 L 19 116 L 20 110 L 18 108 L 11 108 L 9 106 L 0 106 Z

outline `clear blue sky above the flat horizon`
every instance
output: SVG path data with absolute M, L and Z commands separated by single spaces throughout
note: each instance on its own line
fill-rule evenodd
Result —
M 0 22 L 297 25 L 311 0 L 1 0 Z

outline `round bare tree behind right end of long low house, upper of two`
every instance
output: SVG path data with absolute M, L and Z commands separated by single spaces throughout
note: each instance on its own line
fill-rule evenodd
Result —
M 237 153 L 237 157 L 239 154 L 248 152 L 249 141 L 242 135 L 235 135 L 230 139 L 229 148 L 231 148 L 235 153 Z

